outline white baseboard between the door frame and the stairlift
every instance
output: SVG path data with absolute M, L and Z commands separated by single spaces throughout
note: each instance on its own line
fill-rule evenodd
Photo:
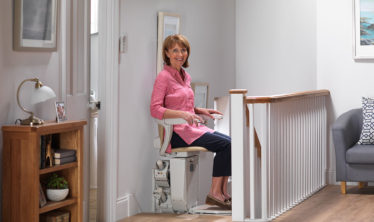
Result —
M 121 220 L 126 217 L 140 213 L 139 204 L 133 194 L 126 194 L 117 199 L 116 202 L 116 220 Z

